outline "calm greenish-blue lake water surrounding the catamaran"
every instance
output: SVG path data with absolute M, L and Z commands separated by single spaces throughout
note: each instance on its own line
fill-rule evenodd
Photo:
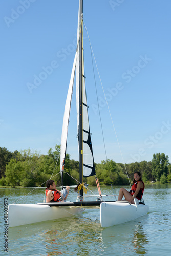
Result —
M 114 189 L 115 194 L 119 188 Z M 129 187 L 125 187 L 129 190 Z M 97 193 L 97 188 L 90 187 Z M 4 199 L 13 203 L 30 188 L 0 189 L 1 194 L 1 255 L 169 255 L 171 246 L 171 184 L 146 185 L 144 201 L 147 215 L 124 224 L 102 228 L 99 210 L 86 209 L 82 215 L 46 221 L 8 229 L 8 252 L 4 251 Z M 44 199 L 44 188 L 22 198 L 17 203 L 37 203 Z M 111 187 L 101 188 L 102 194 L 112 194 Z M 73 188 L 68 200 L 75 201 Z M 109 198 L 111 199 L 111 198 Z M 111 199 L 112 200 L 112 199 Z M 113 199 L 115 200 L 115 199 Z

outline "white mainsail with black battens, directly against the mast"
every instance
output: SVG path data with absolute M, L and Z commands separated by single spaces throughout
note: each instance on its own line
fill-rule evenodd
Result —
M 81 25 L 82 26 L 82 25 Z M 78 151 L 79 151 L 79 80 L 80 77 L 80 52 L 79 52 L 79 37 L 80 37 L 80 15 L 78 14 L 78 29 L 77 29 L 77 47 L 78 47 L 78 54 L 76 60 L 76 105 L 77 105 L 77 128 L 78 128 Z M 91 142 L 91 135 L 90 135 L 90 126 L 89 126 L 89 117 L 88 117 L 88 106 L 87 106 L 87 98 L 86 98 L 86 84 L 85 84 L 85 77 L 84 77 L 84 61 L 82 60 L 83 67 L 82 67 L 82 116 L 83 116 L 83 176 L 93 176 L 95 175 L 95 166 L 94 166 L 94 158 L 93 158 L 93 149 L 92 149 L 92 142 Z

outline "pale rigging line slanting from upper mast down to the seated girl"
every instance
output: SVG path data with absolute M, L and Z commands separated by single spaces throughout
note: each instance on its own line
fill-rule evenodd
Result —
M 85 28 L 86 28 L 86 25 L 85 25 L 85 24 L 84 24 L 84 26 L 85 26 Z M 87 31 L 87 28 L 86 28 L 86 31 Z M 88 38 L 89 38 L 88 31 L 87 31 L 87 35 L 88 35 Z M 90 41 L 90 38 L 89 38 L 89 41 Z M 104 98 L 105 98 L 106 104 L 107 104 L 107 106 L 108 106 L 108 111 L 109 111 L 109 114 L 110 114 L 110 117 L 111 117 L 113 129 L 114 129 L 115 136 L 116 136 L 116 139 L 117 139 L 117 143 L 118 143 L 118 146 L 119 146 L 119 151 L 120 151 L 120 154 L 121 154 L 121 157 L 122 157 L 122 162 L 123 162 L 123 165 L 124 165 L 124 168 L 125 168 L 125 171 L 126 171 L 127 178 L 128 178 L 128 180 L 129 180 L 129 183 L 130 183 L 130 179 L 129 179 L 129 176 L 128 176 L 128 173 L 127 173 L 127 169 L 126 169 L 126 165 L 125 165 L 125 162 L 124 162 L 124 159 L 123 159 L 123 155 L 122 155 L 122 152 L 121 152 L 121 148 L 120 148 L 120 144 L 119 144 L 118 137 L 117 137 L 117 134 L 116 134 L 114 122 L 113 122 L 113 119 L 112 119 L 112 116 L 111 116 L 111 112 L 110 112 L 110 109 L 109 109 L 109 104 L 108 104 L 108 101 L 107 101 L 106 96 L 105 96 L 105 93 L 104 93 L 103 84 L 102 84 L 102 81 L 101 81 L 100 73 L 99 73 L 99 70 L 98 70 L 98 67 L 97 67 L 97 63 L 96 63 L 96 59 L 95 59 L 95 56 L 94 56 L 94 52 L 93 52 L 93 49 L 92 49 L 91 42 L 90 42 L 90 46 L 91 46 L 91 50 L 92 50 L 92 53 L 93 53 L 94 61 L 95 61 L 95 64 L 96 64 L 96 69 L 97 69 L 98 76 L 99 76 L 99 79 L 100 79 L 101 87 L 102 87 L 102 90 L 103 90 Z M 131 187 L 131 183 L 130 183 L 130 187 Z

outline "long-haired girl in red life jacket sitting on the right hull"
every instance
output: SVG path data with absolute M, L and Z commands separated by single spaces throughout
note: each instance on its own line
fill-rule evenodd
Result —
M 138 204 L 139 200 L 141 200 L 142 198 L 144 188 L 145 188 L 145 185 L 144 185 L 144 182 L 141 180 L 140 172 L 135 172 L 133 185 L 131 186 L 130 192 L 122 187 L 119 191 L 118 201 L 121 201 L 124 196 L 125 200 L 131 204 L 134 204 L 134 198 L 135 198 L 136 204 Z

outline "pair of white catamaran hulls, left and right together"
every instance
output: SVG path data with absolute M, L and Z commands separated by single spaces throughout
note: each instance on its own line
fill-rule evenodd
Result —
M 93 206 L 85 205 L 84 207 L 92 208 Z M 95 207 L 98 208 L 99 206 Z M 147 214 L 148 209 L 148 206 L 143 204 L 139 204 L 136 207 L 128 202 L 102 202 L 100 203 L 100 224 L 102 227 L 110 227 L 131 221 Z M 82 210 L 79 206 L 10 204 L 8 206 L 8 224 L 9 227 L 16 227 L 41 221 L 67 218 L 80 214 Z

